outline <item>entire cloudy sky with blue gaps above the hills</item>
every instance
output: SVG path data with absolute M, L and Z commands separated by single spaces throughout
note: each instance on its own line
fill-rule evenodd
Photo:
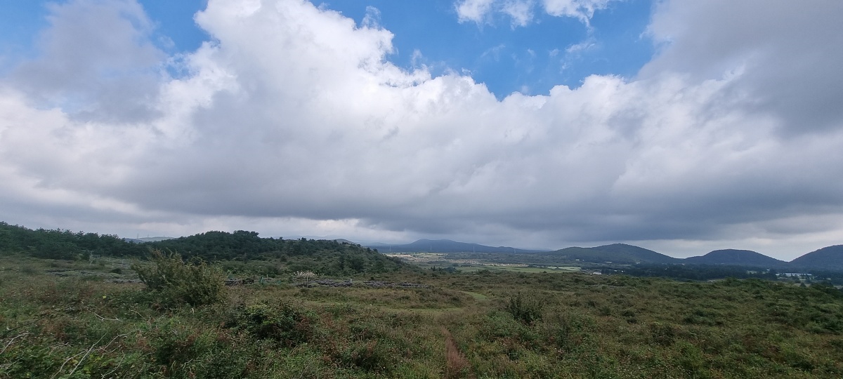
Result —
M 0 2 L 0 220 L 843 243 L 843 2 Z

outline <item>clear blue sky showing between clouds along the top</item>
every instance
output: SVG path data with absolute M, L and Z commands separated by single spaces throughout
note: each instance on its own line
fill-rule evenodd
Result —
M 32 56 L 33 44 L 46 20 L 47 1 L 14 2 L 0 13 L 0 53 Z M 160 2 L 142 0 L 153 22 L 152 40 L 170 54 L 195 51 L 210 36 L 193 15 L 207 0 Z M 369 0 L 318 3 L 354 19 L 376 22 L 395 35 L 395 52 L 387 59 L 411 70 L 424 65 L 434 76 L 454 71 L 485 83 L 498 99 L 509 93 L 546 94 L 556 85 L 577 88 L 589 75 L 634 77 L 652 58 L 645 35 L 652 3 L 629 0 L 609 3 L 586 24 L 557 17 L 534 4 L 533 19 L 513 24 L 506 14 L 492 13 L 487 22 L 459 22 L 451 0 L 394 2 Z M 368 20 L 367 20 L 368 18 Z M 8 59 L 0 67 L 12 66 Z

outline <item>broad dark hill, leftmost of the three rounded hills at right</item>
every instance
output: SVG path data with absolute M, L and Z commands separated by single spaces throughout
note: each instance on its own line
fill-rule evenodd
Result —
M 626 243 L 613 243 L 611 245 L 597 246 L 594 248 L 562 248 L 546 254 L 553 254 L 568 260 L 580 260 L 591 263 L 613 263 L 613 264 L 675 264 L 680 259 L 668 255 L 656 253 L 647 248 L 639 248 Z

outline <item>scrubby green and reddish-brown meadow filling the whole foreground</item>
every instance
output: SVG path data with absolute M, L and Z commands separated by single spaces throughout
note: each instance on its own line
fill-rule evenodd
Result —
M 832 286 L 372 270 L 225 287 L 224 262 L 153 259 L 143 284 L 119 260 L 0 255 L 0 377 L 843 376 Z

